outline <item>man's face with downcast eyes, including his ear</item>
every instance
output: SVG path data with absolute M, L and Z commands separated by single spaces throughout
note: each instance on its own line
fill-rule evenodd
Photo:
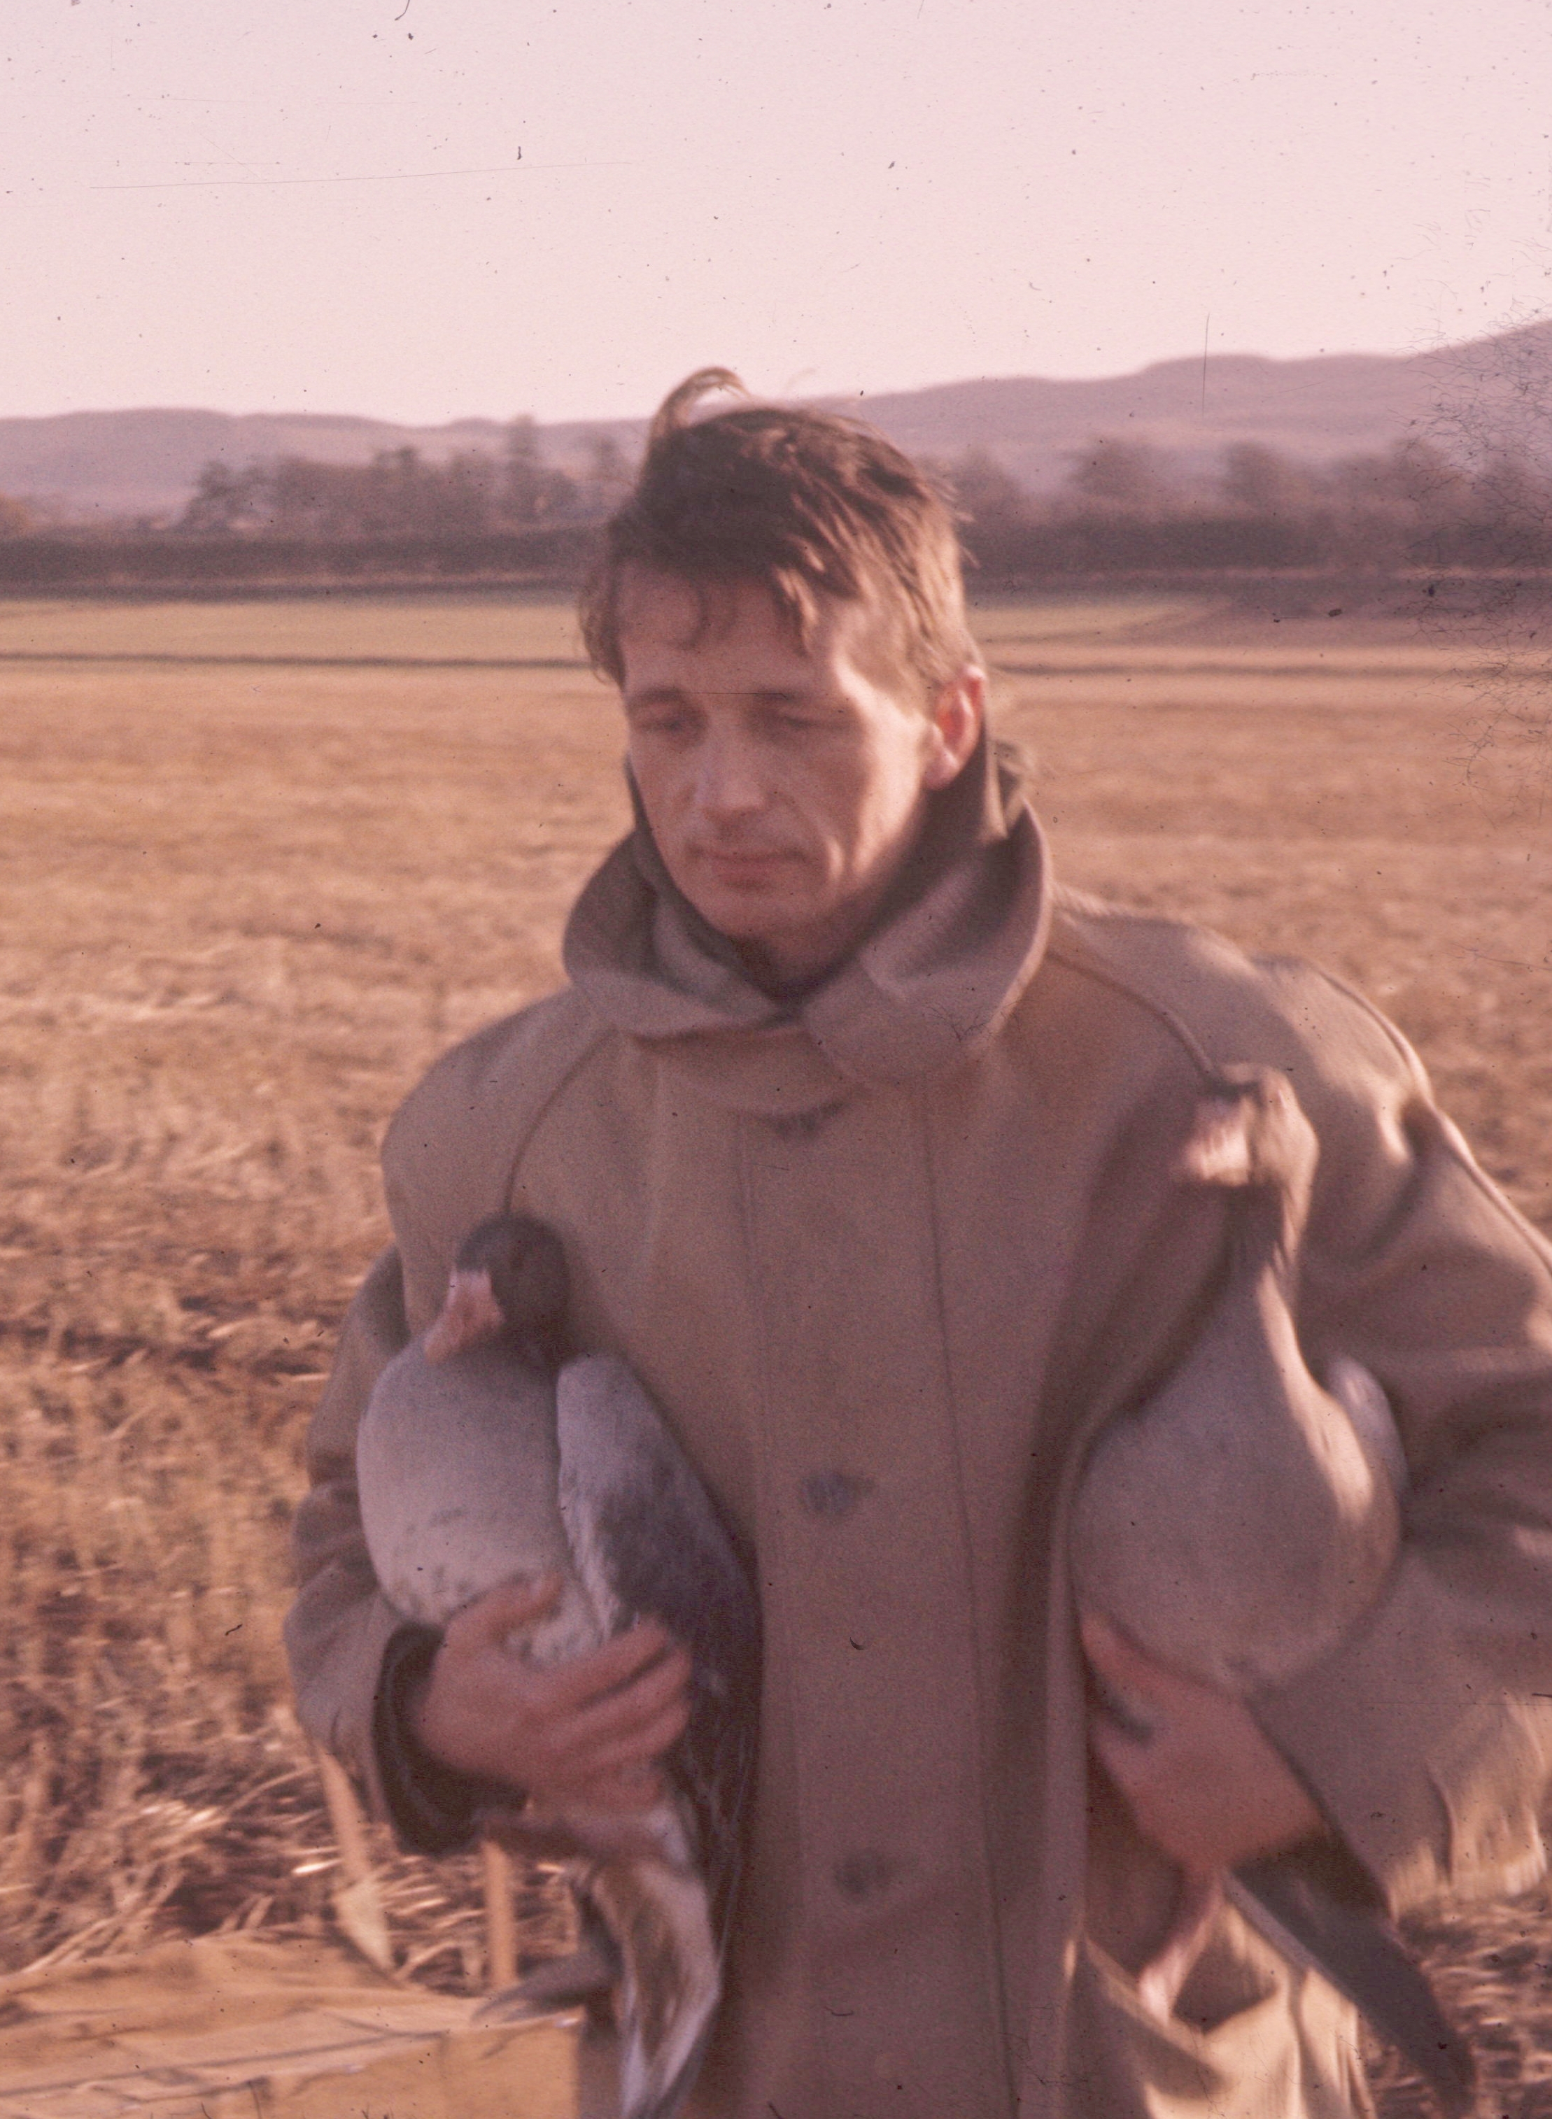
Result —
M 867 602 L 821 602 L 808 644 L 757 583 L 702 598 L 632 568 L 619 644 L 630 763 L 668 873 L 751 966 L 816 977 L 861 939 L 975 746 L 980 672 L 937 699 L 890 674 Z

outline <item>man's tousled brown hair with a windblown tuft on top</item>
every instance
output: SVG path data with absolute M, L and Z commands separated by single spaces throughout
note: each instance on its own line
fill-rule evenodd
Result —
M 931 479 L 837 413 L 744 403 L 693 420 L 712 390 L 744 394 L 727 369 L 700 369 L 664 398 L 636 489 L 604 530 L 581 595 L 594 667 L 623 682 L 619 595 L 634 566 L 700 591 L 702 625 L 706 591 L 757 583 L 801 642 L 821 595 L 869 600 L 884 651 L 929 693 L 975 663 L 954 517 Z

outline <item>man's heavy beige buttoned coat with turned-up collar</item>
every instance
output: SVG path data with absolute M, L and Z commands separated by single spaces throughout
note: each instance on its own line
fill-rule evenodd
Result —
M 310 1727 L 373 1784 L 394 1617 L 352 1435 L 507 1201 L 575 1274 L 755 1564 L 761 1776 L 719 2119 L 1295 2119 L 1363 2108 L 1353 2024 L 1232 1916 L 1160 2030 L 1126 1964 L 1172 1873 L 1090 1788 L 1064 1524 L 1096 1428 L 1189 1343 L 1221 1201 L 1170 1161 L 1209 1072 L 1285 1068 L 1321 1136 L 1315 1365 L 1397 1409 L 1387 1596 L 1253 1702 L 1393 1909 L 1529 1884 L 1552 1723 L 1552 1263 L 1361 1000 L 1054 892 L 1011 786 L 939 797 L 914 896 L 784 1013 L 628 841 L 566 992 L 449 1053 L 384 1155 L 399 1257 L 312 1437 L 290 1623 Z

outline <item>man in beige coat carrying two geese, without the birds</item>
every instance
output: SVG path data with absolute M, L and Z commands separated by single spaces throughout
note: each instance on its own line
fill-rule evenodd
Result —
M 1552 1695 L 1552 1269 L 1397 1034 L 1317 973 L 1052 884 L 988 742 L 952 523 L 850 422 L 659 413 L 585 600 L 636 829 L 570 985 L 447 1055 L 384 1151 L 396 1257 L 312 1437 L 290 1621 L 310 1727 L 418 1846 L 483 1784 L 632 1805 L 683 1725 L 642 1625 L 570 1672 L 375 1593 L 354 1422 L 483 1214 L 551 1223 L 570 1335 L 640 1373 L 742 1541 L 761 1767 L 719 2119 L 1365 2111 L 1351 2011 L 1221 1913 L 1175 2013 L 1134 1973 L 1183 1873 L 1319 1850 L 1397 1911 L 1539 1873 Z M 1092 1623 L 1153 1733 L 1086 1708 L 1083 1452 L 1179 1360 L 1221 1199 L 1172 1163 L 1215 1070 L 1321 1136 L 1319 1369 L 1395 1405 L 1414 1496 L 1380 1606 L 1249 1706 Z M 401 1293 L 403 1290 L 403 1293 Z

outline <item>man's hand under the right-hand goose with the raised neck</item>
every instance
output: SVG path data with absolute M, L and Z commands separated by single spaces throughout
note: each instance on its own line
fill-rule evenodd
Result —
M 1325 1818 L 1240 1699 L 1151 1661 L 1098 1615 L 1083 1619 L 1098 1676 L 1151 1733 L 1096 1708 L 1090 1744 L 1139 1829 L 1187 1875 L 1234 1869 L 1325 1833 Z

